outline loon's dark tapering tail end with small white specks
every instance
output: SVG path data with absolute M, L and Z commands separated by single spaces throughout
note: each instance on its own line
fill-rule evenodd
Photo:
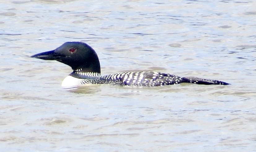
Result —
M 195 83 L 195 84 L 204 84 L 204 85 L 211 85 L 211 84 L 219 84 L 219 85 L 228 85 L 229 83 L 219 81 L 219 80 L 209 80 L 209 79 L 202 79 L 196 77 L 183 77 L 184 82 L 187 83 Z

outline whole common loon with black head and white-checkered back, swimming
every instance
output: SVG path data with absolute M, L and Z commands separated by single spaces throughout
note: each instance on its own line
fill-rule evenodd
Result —
M 179 83 L 218 84 L 229 83 L 195 77 L 179 77 L 159 72 L 122 72 L 101 76 L 100 62 L 96 52 L 83 42 L 66 42 L 52 51 L 31 57 L 43 60 L 57 60 L 72 67 L 73 72 L 64 78 L 61 86 L 82 84 L 116 84 L 128 86 L 165 86 Z

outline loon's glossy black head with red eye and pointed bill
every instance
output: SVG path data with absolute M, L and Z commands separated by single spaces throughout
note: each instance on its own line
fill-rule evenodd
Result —
M 35 54 L 31 57 L 56 60 L 81 72 L 100 73 L 100 62 L 96 52 L 83 42 L 66 42 L 57 49 Z

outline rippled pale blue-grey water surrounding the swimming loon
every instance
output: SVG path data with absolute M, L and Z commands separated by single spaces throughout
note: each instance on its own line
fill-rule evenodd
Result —
M 1 2 L 1 151 L 254 151 L 252 1 Z M 29 56 L 82 41 L 102 75 L 231 83 L 65 90 L 71 68 Z

